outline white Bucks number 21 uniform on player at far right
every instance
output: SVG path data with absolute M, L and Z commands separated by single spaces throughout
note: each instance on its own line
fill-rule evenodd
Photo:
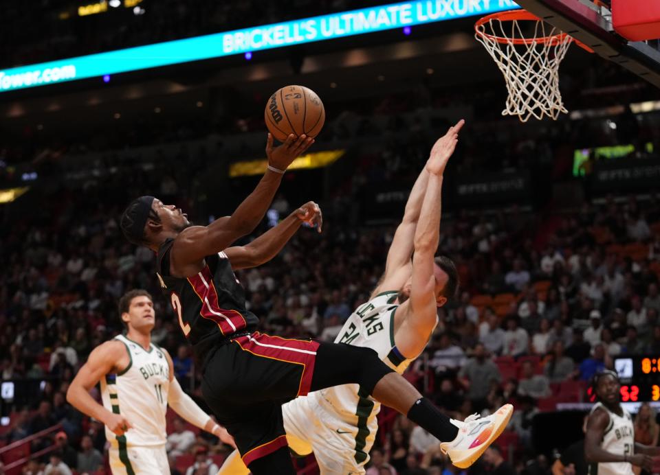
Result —
M 621 408 L 623 415 L 620 416 L 608 410 L 602 403 L 598 402 L 591 409 L 591 413 L 597 408 L 606 411 L 610 422 L 603 434 L 600 444 L 603 450 L 619 455 L 635 454 L 635 430 L 632 426 L 632 417 L 628 411 Z M 589 465 L 588 475 L 633 475 L 632 465 L 628 462 L 592 463 Z

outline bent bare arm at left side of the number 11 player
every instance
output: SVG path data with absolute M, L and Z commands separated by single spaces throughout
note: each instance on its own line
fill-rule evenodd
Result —
M 120 341 L 107 341 L 96 347 L 89 354 L 87 362 L 80 368 L 76 378 L 71 382 L 67 391 L 67 402 L 80 410 L 81 413 L 98 419 L 116 435 L 124 435 L 126 430 L 133 428 L 131 423 L 121 414 L 113 414 L 91 397 L 92 389 L 101 378 L 113 373 L 117 368 L 115 364 L 128 358 L 126 347 Z

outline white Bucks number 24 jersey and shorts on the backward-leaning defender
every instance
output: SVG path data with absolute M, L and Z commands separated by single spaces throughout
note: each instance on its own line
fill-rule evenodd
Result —
M 389 367 L 403 373 L 412 360 L 394 342 L 398 292 L 383 292 L 349 316 L 335 343 L 371 348 Z M 380 403 L 358 384 L 309 393 L 282 406 L 288 437 L 300 439 L 293 450 L 314 450 L 322 474 L 364 474 L 375 441 Z

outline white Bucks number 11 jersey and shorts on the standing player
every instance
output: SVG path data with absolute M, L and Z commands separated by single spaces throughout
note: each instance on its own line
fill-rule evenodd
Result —
M 110 441 L 110 468 L 113 474 L 169 474 L 165 443 L 165 413 L 170 387 L 169 365 L 163 351 L 148 350 L 125 336 L 115 336 L 126 345 L 129 366 L 121 373 L 101 380 L 103 406 L 126 417 L 133 428 L 115 435 L 105 428 Z

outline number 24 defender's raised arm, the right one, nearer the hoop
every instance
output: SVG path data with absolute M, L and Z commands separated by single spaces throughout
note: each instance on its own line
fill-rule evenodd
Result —
M 459 126 L 463 121 L 459 122 Z M 429 173 L 426 194 L 421 205 L 419 223 L 415 229 L 415 255 L 412 257 L 412 287 L 410 299 L 395 313 L 397 348 L 406 358 L 417 358 L 433 331 L 437 318 L 433 257 L 440 240 L 440 215 L 442 211 L 442 181 L 445 167 L 456 148 L 458 133 L 441 137 L 431 150 L 426 162 Z M 444 297 L 443 297 L 444 298 Z

